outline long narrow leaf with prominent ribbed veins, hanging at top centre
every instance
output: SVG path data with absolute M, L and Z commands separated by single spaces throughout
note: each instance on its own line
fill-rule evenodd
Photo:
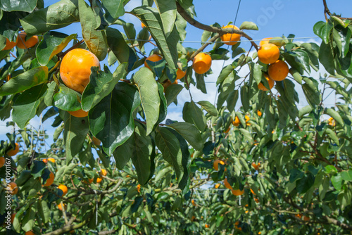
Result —
M 140 6 L 132 10 L 132 15 L 141 20 L 151 32 L 151 37 L 156 42 L 158 49 L 163 53 L 163 58 L 171 69 L 177 68 L 177 42 L 180 38 L 176 27 L 173 27 L 169 35 L 165 35 L 162 28 L 162 20 L 155 8 Z

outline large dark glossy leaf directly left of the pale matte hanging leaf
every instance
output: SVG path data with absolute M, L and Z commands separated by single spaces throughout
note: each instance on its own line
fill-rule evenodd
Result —
M 133 112 L 140 105 L 136 87 L 118 82 L 111 94 L 89 110 L 89 127 L 103 143 L 103 151 L 111 155 L 134 131 Z

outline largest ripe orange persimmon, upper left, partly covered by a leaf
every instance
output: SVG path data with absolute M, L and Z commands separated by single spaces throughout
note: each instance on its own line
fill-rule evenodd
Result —
M 60 77 L 67 87 L 82 94 L 89 83 L 93 66 L 100 69 L 99 59 L 94 53 L 84 49 L 73 49 L 63 56 Z

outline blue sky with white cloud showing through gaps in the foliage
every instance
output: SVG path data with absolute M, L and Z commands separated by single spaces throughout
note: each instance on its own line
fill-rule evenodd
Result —
M 55 3 L 56 0 L 45 1 L 46 6 Z M 127 4 L 126 11 L 130 11 L 135 6 L 139 6 L 141 0 L 131 0 Z M 337 4 L 337 2 L 339 4 Z M 341 0 L 341 1 L 332 1 L 327 0 L 327 4 L 330 8 L 330 11 L 341 13 L 343 16 L 351 17 L 348 13 L 351 13 L 352 1 L 351 0 Z M 201 23 L 211 25 L 213 23 L 219 23 L 220 25 L 227 25 L 230 21 L 234 21 L 234 18 L 237 13 L 237 7 L 239 6 L 238 0 L 194 0 L 194 5 L 196 6 L 196 20 L 199 20 Z M 313 33 L 313 25 L 320 21 L 325 20 L 324 17 L 324 7 L 322 0 L 249 0 L 241 1 L 239 7 L 239 13 L 237 16 L 236 25 L 241 25 L 244 21 L 253 21 L 259 27 L 258 32 L 248 32 L 248 34 L 253 37 L 253 39 L 263 39 L 264 37 L 281 37 L 282 35 L 288 36 L 289 34 L 295 34 L 296 37 L 316 37 Z M 141 29 L 140 22 L 133 15 L 126 14 L 122 16 L 123 20 L 127 22 L 134 23 L 137 32 Z M 122 27 L 118 27 L 119 30 L 122 30 Z M 77 32 L 80 33 L 80 24 L 75 23 L 64 29 L 58 30 L 65 32 L 66 34 L 71 34 Z M 192 43 L 199 42 L 201 40 L 201 34 L 203 30 L 196 29 L 191 25 L 187 26 L 187 38 L 184 42 L 184 46 L 193 47 L 195 49 L 199 48 L 201 44 Z M 311 38 L 311 39 L 299 39 L 299 42 L 316 42 L 320 43 L 320 39 Z M 249 42 L 242 42 L 241 46 L 245 49 L 249 49 Z M 209 51 L 212 46 L 209 46 L 206 51 Z M 146 51 L 152 49 L 153 46 L 146 46 Z M 228 61 L 225 65 L 231 63 Z M 106 61 L 102 61 L 107 63 Z M 215 80 L 218 77 L 223 66 L 222 61 L 214 61 L 212 70 L 213 75 L 206 77 L 206 86 L 208 94 L 202 94 L 201 91 L 196 89 L 191 89 L 192 95 L 195 101 L 208 100 L 213 103 L 215 99 Z M 115 67 L 111 68 L 113 71 Z M 246 71 L 244 71 L 245 73 Z M 248 72 L 248 70 L 247 70 Z M 321 72 L 325 72 L 322 70 Z M 318 73 L 315 73 L 313 77 L 318 76 Z M 299 90 L 299 87 L 297 87 Z M 182 91 L 183 92 L 183 91 Z M 301 91 L 298 91 L 301 94 Z M 332 96 L 332 98 L 334 98 Z M 184 91 L 181 94 L 179 99 L 179 106 L 170 106 L 168 111 L 168 118 L 172 120 L 182 120 L 182 107 L 183 103 L 189 101 L 188 92 Z M 331 103 L 331 100 L 327 100 L 328 103 Z M 300 103 L 300 106 L 305 106 L 306 103 Z M 237 103 L 237 108 L 241 106 L 240 101 Z M 298 107 L 299 108 L 299 107 Z M 6 120 L 7 121 L 7 120 Z M 4 135 L 6 132 L 11 132 L 12 129 L 5 128 L 5 122 L 0 121 L 0 139 L 6 139 Z M 39 126 L 39 118 L 34 118 L 31 122 L 31 125 L 34 127 Z M 49 131 L 49 134 L 53 134 L 54 129 L 51 128 L 51 120 L 44 122 L 44 129 Z M 48 140 L 50 143 L 51 139 Z

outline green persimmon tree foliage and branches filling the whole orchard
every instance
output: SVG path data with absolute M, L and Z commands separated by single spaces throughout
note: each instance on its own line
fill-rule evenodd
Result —
M 323 1 L 326 20 L 313 27 L 320 45 L 295 42 L 292 34 L 269 39 L 290 68 L 289 77 L 269 89 L 269 65 L 249 53 L 258 51 L 256 43 L 244 49 L 240 42 L 221 42 L 231 32 L 251 40 L 246 30 L 258 30 L 254 23 L 239 30 L 203 25 L 191 0 L 142 0 L 125 12 L 127 2 L 0 1 L 0 49 L 21 31 L 25 40 L 39 38 L 35 46 L 0 51 L 0 118 L 11 118 L 14 128 L 0 146 L 11 161 L 0 168 L 0 223 L 7 221 L 7 169 L 18 186 L 11 196 L 15 217 L 0 234 L 352 231 L 351 21 L 330 13 Z M 145 27 L 137 32 L 120 19 L 125 14 Z M 56 31 L 72 23 L 80 23 L 82 40 Z M 201 48 L 182 44 L 188 27 L 204 30 Z M 156 49 L 146 51 L 148 44 Z M 66 87 L 59 72 L 65 54 L 77 48 L 101 61 L 82 93 Z M 213 87 L 215 105 L 191 94 L 191 85 L 206 94 L 212 73 L 194 72 L 192 61 L 201 51 L 213 61 L 232 61 Z M 162 59 L 146 61 L 151 54 Z M 112 65 L 118 65 L 114 71 Z M 245 77 L 243 69 L 249 70 Z M 310 75 L 320 69 L 327 74 Z M 178 70 L 186 72 L 181 79 Z M 165 120 L 183 89 L 189 91 L 184 122 Z M 327 90 L 337 94 L 332 107 L 324 103 Z M 298 108 L 302 100 L 309 105 Z M 80 109 L 87 117 L 68 113 Z M 49 150 L 46 131 L 27 125 L 36 115 L 56 128 Z M 15 144 L 17 155 L 11 154 Z M 51 172 L 54 183 L 44 186 Z

